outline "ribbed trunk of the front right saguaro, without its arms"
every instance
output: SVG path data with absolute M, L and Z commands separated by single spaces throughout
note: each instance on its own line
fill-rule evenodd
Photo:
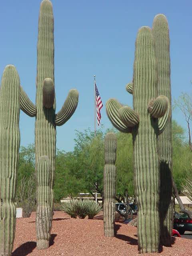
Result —
M 134 61 L 134 110 L 140 123 L 132 130 L 135 196 L 138 204 L 138 247 L 141 253 L 159 248 L 159 164 L 157 119 L 146 111 L 156 97 L 157 67 L 151 31 L 142 27 L 136 39 Z

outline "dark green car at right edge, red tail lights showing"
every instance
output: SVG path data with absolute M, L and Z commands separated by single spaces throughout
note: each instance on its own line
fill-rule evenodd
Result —
M 186 213 L 175 217 L 173 228 L 178 230 L 181 235 L 183 235 L 185 231 L 192 231 L 192 219 L 190 219 Z

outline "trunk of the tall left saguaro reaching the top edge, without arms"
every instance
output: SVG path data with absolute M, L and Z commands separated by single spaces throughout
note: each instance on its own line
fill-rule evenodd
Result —
M 38 162 L 42 156 L 47 156 L 50 161 L 50 201 L 46 204 L 47 210 L 42 212 L 45 226 L 50 225 L 50 220 L 46 216 L 46 211 L 53 212 L 53 186 L 55 176 L 55 154 L 56 154 L 56 126 L 55 103 L 51 108 L 43 106 L 43 84 L 46 78 L 51 78 L 54 82 L 54 20 L 52 12 L 52 4 L 49 0 L 41 3 L 39 26 L 38 26 L 38 46 L 37 46 L 37 78 L 36 78 L 36 122 L 35 122 L 35 148 L 36 148 L 36 174 L 38 173 Z M 38 179 L 38 177 L 37 177 Z M 40 205 L 38 205 L 40 207 Z M 41 226 L 36 225 L 39 233 Z M 50 228 L 51 229 L 51 228 Z M 49 232 L 50 232 L 49 229 Z M 46 235 L 49 237 L 48 235 Z M 39 238 L 37 233 L 37 239 Z M 41 243 L 39 248 L 48 248 L 48 243 Z

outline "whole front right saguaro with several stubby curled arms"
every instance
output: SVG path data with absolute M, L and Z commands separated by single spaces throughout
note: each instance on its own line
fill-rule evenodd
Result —
M 122 132 L 132 132 L 133 136 L 138 249 L 141 253 L 157 252 L 160 242 L 157 137 L 166 125 L 163 116 L 168 99 L 162 95 L 157 97 L 156 87 L 154 39 L 150 28 L 142 27 L 135 44 L 133 83 L 126 86 L 126 90 L 133 94 L 134 110 L 114 99 L 106 104 L 112 124 Z

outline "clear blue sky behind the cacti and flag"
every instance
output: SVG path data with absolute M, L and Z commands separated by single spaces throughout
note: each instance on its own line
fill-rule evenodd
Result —
M 41 0 L 6 0 L 0 3 L 0 74 L 14 64 L 21 84 L 35 102 L 36 45 Z M 79 91 L 72 118 L 57 128 L 57 148 L 74 148 L 75 130 L 94 130 L 93 75 L 104 107 L 104 130 L 112 125 L 105 104 L 117 98 L 132 106 L 125 84 L 132 80 L 134 43 L 141 26 L 152 26 L 158 13 L 166 15 L 170 28 L 172 99 L 192 91 L 192 2 L 128 0 L 52 0 L 55 38 L 56 110 L 71 88 Z M 183 127 L 182 114 L 173 118 Z M 35 118 L 20 114 L 21 145 L 34 143 Z

